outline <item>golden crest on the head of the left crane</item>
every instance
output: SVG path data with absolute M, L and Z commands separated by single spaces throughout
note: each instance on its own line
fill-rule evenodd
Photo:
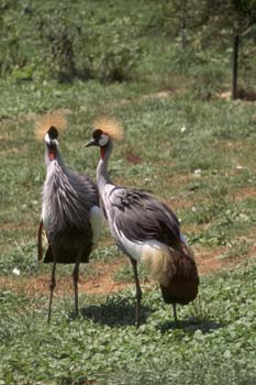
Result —
M 55 127 L 58 131 L 64 131 L 67 127 L 67 120 L 64 117 L 64 113 L 60 111 L 55 111 L 36 120 L 35 139 L 37 141 L 44 140 L 44 136 L 51 127 Z

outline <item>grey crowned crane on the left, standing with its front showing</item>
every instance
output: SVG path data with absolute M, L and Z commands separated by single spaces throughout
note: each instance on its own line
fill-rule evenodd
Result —
M 66 120 L 59 113 L 47 114 L 35 123 L 36 139 L 45 141 L 46 179 L 43 187 L 37 251 L 38 261 L 53 263 L 48 322 L 56 286 L 57 263 L 75 264 L 75 316 L 78 315 L 79 264 L 89 262 L 89 255 L 100 238 L 102 222 L 96 185 L 88 176 L 70 172 L 60 156 L 57 139 L 58 132 L 65 127 Z M 48 241 L 44 258 L 43 228 Z

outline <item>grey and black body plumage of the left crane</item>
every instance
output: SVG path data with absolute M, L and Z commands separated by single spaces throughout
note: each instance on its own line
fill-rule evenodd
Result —
M 49 248 L 57 249 L 59 263 L 75 263 L 81 250 L 81 262 L 88 262 L 93 245 L 90 210 L 99 207 L 97 187 L 89 177 L 67 169 L 59 153 L 54 161 L 46 154 L 46 169 L 42 219 Z M 49 252 L 44 262 L 53 262 Z

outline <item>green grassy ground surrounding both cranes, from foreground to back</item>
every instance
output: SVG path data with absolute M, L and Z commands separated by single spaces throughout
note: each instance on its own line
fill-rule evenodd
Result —
M 34 120 L 55 109 L 67 114 L 68 129 L 59 144 L 70 168 L 94 178 L 99 154 L 84 144 L 93 119 L 112 116 L 125 132 L 110 161 L 114 182 L 149 190 L 170 206 L 194 250 L 207 250 L 223 264 L 255 256 L 255 105 L 218 97 L 230 90 L 231 52 L 214 44 L 203 52 L 182 52 L 178 40 L 164 30 L 162 6 L 77 0 L 70 7 L 48 0 L 33 2 L 37 13 L 32 16 L 23 3 L 2 15 L 10 31 L 16 31 L 33 76 L 22 80 L 14 72 L 0 79 L 0 283 L 5 283 L 0 290 L 0 385 L 256 382 L 254 258 L 202 277 L 196 307 L 179 308 L 177 328 L 171 309 L 157 286 L 148 288 L 143 270 L 140 330 L 133 326 L 133 286 L 108 296 L 81 294 L 81 316 L 76 320 L 73 297 L 55 298 L 49 327 L 48 293 L 15 289 L 15 279 L 25 283 L 49 274 L 52 267 L 36 264 L 45 166 L 44 143 L 34 140 Z M 134 42 L 142 46 L 130 81 L 59 84 L 51 78 L 44 63 L 47 47 L 35 24 L 35 16 L 51 12 L 90 28 L 94 21 L 103 28 L 107 21 L 112 25 L 127 16 L 122 28 L 130 33 L 134 24 Z M 105 226 L 91 264 L 82 266 L 81 274 L 97 279 L 99 264 L 120 258 Z M 9 285 L 14 268 L 21 276 Z M 58 277 L 70 279 L 71 268 L 58 266 Z M 129 262 L 113 278 L 133 283 Z

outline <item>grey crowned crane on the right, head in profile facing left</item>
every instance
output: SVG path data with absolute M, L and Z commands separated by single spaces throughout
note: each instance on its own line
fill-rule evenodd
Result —
M 140 326 L 142 290 L 137 262 L 160 285 L 163 299 L 171 304 L 175 321 L 176 305 L 187 305 L 198 295 L 199 275 L 192 251 L 180 233 L 175 213 L 143 190 L 114 185 L 108 173 L 113 141 L 121 141 L 119 123 L 101 119 L 94 123 L 93 139 L 86 146 L 100 147 L 97 184 L 103 210 L 116 245 L 132 263 L 136 285 L 135 323 Z

